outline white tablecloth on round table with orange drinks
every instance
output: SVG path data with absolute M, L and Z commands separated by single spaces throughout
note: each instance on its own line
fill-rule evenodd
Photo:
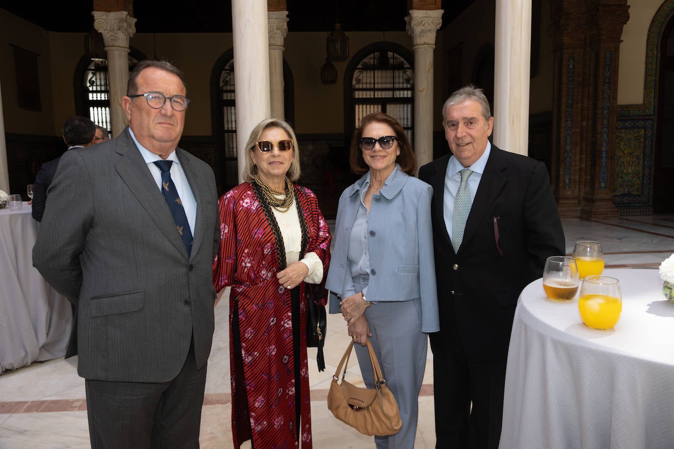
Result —
M 607 269 L 623 310 L 586 327 L 578 296 L 520 296 L 508 353 L 501 448 L 674 448 L 674 304 L 657 270 Z

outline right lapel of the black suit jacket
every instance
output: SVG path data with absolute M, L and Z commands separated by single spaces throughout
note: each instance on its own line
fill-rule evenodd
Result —
M 505 182 L 508 180 L 502 173 L 507 167 L 501 160 L 500 151 L 502 150 L 498 149 L 496 145 L 491 145 L 491 153 L 485 165 L 485 172 L 482 174 L 480 185 L 477 188 L 475 199 L 472 202 L 470 213 L 466 220 L 466 230 L 464 230 L 462 246 L 464 242 L 470 240 L 479 223 L 486 219 L 485 215 L 489 211 L 491 204 L 498 197 Z M 459 248 L 459 250 L 461 249 Z

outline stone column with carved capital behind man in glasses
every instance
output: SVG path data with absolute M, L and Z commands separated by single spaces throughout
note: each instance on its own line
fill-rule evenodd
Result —
M 110 123 L 112 135 L 117 137 L 127 125 L 122 97 L 129 81 L 129 38 L 135 34 L 135 18 L 127 11 L 93 11 L 92 15 L 108 53 Z

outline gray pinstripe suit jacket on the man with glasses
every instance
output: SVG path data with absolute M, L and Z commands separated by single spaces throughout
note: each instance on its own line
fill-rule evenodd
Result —
M 61 157 L 33 263 L 78 305 L 67 356 L 77 349 L 84 378 L 166 382 L 181 370 L 192 339 L 197 367 L 208 359 L 220 242 L 216 184 L 205 162 L 175 151 L 197 202 L 189 257 L 128 130 Z

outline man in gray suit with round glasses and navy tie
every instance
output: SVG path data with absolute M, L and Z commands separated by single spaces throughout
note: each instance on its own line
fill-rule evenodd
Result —
M 206 163 L 177 147 L 189 100 L 182 73 L 143 61 L 116 139 L 65 153 L 33 250 L 77 305 L 93 448 L 199 446 L 220 242 Z

